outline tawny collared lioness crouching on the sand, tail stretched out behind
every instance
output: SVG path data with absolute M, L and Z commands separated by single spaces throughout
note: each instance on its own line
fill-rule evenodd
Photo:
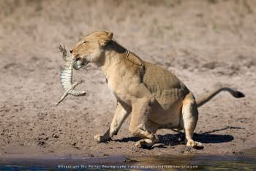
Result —
M 203 99 L 195 96 L 172 72 L 141 60 L 134 53 L 113 40 L 110 31 L 95 31 L 80 40 L 70 50 L 78 68 L 96 64 L 104 73 L 108 87 L 117 99 L 116 113 L 105 134 L 94 140 L 105 142 L 116 135 L 129 114 L 132 114 L 129 132 L 141 140 L 138 147 L 151 147 L 156 143 L 157 129 L 184 129 L 187 146 L 203 147 L 192 140 L 197 124 L 197 107 L 208 102 L 220 91 L 228 91 L 236 98 L 244 97 L 240 91 L 222 87 Z

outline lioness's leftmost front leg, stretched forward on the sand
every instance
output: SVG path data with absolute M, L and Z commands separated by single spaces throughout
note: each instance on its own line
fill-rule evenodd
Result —
M 122 123 L 124 123 L 129 113 L 131 113 L 131 107 L 117 102 L 116 112 L 112 119 L 110 128 L 107 132 L 105 132 L 105 134 L 95 135 L 94 140 L 96 140 L 97 142 L 106 142 L 108 140 L 111 140 L 111 137 L 117 134 L 118 130 L 121 128 Z

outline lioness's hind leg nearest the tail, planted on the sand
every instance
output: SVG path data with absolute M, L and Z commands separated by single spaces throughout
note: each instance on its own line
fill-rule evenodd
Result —
M 197 125 L 197 118 L 197 104 L 195 99 L 191 98 L 191 95 L 189 94 L 189 96 L 184 99 L 182 107 L 182 119 L 186 134 L 187 146 L 192 148 L 203 148 L 203 144 L 201 142 L 192 140 L 195 126 Z

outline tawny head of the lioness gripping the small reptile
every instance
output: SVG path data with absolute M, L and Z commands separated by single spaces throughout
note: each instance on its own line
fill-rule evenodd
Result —
M 112 38 L 113 33 L 110 31 L 95 31 L 83 37 L 70 49 L 72 58 L 76 60 L 74 68 L 79 69 L 89 62 L 98 63 L 103 58 L 105 46 Z

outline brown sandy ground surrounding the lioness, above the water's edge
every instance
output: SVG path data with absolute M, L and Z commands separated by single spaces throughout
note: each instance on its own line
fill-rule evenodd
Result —
M 0 1 L 1 156 L 233 154 L 256 141 L 256 1 Z M 173 71 L 195 96 L 219 83 L 246 94 L 222 93 L 200 107 L 195 140 L 159 130 L 161 144 L 135 148 L 129 119 L 108 143 L 94 142 L 108 129 L 116 100 L 96 66 L 75 72 L 86 96 L 63 93 L 60 44 L 71 47 L 95 30 Z

